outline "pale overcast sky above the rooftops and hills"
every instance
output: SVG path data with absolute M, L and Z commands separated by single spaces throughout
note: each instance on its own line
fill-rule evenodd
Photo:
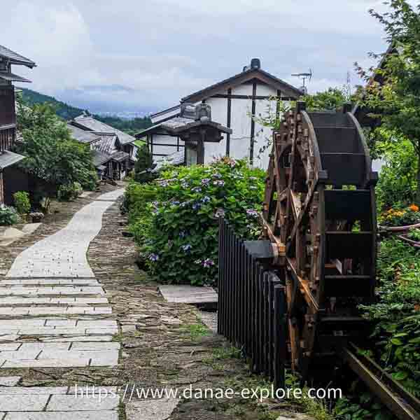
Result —
M 31 89 L 79 106 L 155 110 L 239 73 L 252 57 L 297 87 L 290 74 L 311 68 L 310 92 L 341 86 L 347 71 L 356 85 L 353 63 L 386 49 L 367 13 L 381 3 L 17 0 L 0 14 L 0 44 L 38 64 L 15 68 Z

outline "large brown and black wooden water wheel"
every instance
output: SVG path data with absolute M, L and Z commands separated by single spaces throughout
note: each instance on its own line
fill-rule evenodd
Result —
M 270 155 L 264 232 L 278 251 L 290 362 L 303 378 L 363 338 L 357 307 L 374 297 L 377 174 L 349 111 L 310 113 L 298 102 Z

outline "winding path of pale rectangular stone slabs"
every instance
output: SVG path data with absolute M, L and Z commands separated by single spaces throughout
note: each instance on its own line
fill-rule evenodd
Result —
M 0 279 L 0 370 L 118 365 L 120 343 L 112 341 L 118 325 L 86 251 L 122 194 L 97 197 L 65 228 L 22 251 Z M 21 387 L 20 377 L 0 379 L 0 420 L 118 419 L 115 392 L 102 400 L 76 398 L 69 386 Z

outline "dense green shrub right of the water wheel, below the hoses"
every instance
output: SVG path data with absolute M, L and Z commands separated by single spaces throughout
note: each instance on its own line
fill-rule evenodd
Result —
M 381 242 L 379 302 L 362 307 L 376 325 L 374 356 L 407 391 L 420 395 L 419 251 L 399 239 Z

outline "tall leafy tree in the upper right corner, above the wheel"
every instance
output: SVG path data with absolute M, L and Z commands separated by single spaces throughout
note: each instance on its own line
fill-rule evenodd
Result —
M 420 203 L 420 6 L 412 8 L 406 0 L 391 0 L 390 10 L 370 15 L 379 20 L 391 45 L 382 55 L 378 69 L 363 70 L 367 81 L 360 102 L 379 121 L 380 130 L 395 133 L 388 141 L 407 139 L 412 143 L 416 160 L 416 204 Z M 380 55 L 370 53 L 371 57 Z M 373 76 L 372 76 L 373 71 Z M 374 135 L 381 137 L 379 129 Z

